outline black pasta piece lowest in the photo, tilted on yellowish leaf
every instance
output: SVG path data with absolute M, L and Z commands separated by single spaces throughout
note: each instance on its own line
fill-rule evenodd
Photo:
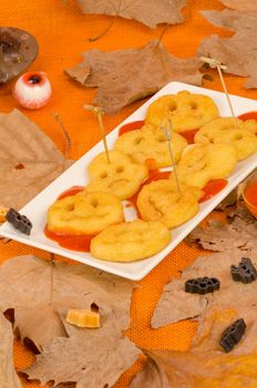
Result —
M 230 351 L 241 339 L 246 330 L 246 324 L 243 318 L 235 320 L 222 335 L 219 345 L 228 353 Z

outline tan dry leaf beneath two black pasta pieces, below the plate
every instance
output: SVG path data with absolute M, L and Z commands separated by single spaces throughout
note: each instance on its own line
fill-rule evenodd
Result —
M 256 249 L 247 252 L 247 257 L 251 258 L 255 266 L 257 266 L 256 253 Z M 174 279 L 164 287 L 152 318 L 152 326 L 157 328 L 182 319 L 197 317 L 210 306 L 237 308 L 240 303 L 248 307 L 257 303 L 257 282 L 244 285 L 232 279 L 230 265 L 237 265 L 241 256 L 246 256 L 241 251 L 230 249 L 198 257 L 191 267 L 183 272 L 179 279 Z M 218 278 L 220 289 L 205 295 L 185 293 L 187 279 L 205 276 Z M 189 303 L 186 302 L 186 298 L 189 299 Z

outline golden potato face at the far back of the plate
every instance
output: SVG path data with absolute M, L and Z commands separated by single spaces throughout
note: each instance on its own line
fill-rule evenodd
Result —
M 147 110 L 145 123 L 160 127 L 171 119 L 174 130 L 182 132 L 197 130 L 217 116 L 218 109 L 209 96 L 182 91 L 154 101 Z

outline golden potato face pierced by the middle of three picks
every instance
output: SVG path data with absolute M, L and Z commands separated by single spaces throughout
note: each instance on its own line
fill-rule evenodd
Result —
M 181 184 L 182 195 L 171 180 L 160 180 L 145 185 L 136 205 L 145 221 L 161 221 L 168 228 L 179 226 L 198 212 L 198 200 L 204 193 L 197 187 Z

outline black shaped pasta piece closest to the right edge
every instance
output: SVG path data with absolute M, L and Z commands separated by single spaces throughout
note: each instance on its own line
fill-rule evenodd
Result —
M 241 282 L 244 284 L 251 283 L 257 278 L 257 270 L 248 257 L 241 257 L 238 266 L 232 265 L 230 273 L 233 280 Z

